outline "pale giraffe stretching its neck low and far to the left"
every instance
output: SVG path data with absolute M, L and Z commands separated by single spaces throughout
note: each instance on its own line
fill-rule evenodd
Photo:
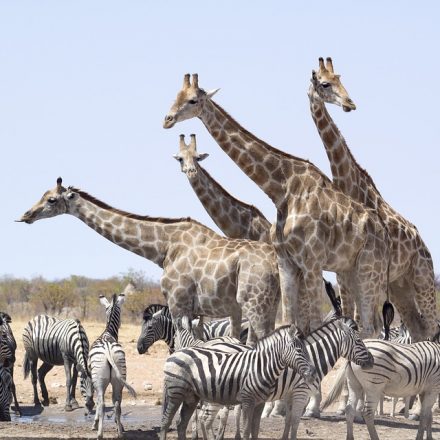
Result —
M 173 319 L 229 316 L 240 335 L 242 314 L 252 333 L 248 343 L 275 325 L 280 298 L 275 251 L 267 243 L 221 237 L 191 218 L 140 216 L 107 205 L 75 187 L 55 188 L 20 220 L 70 214 L 118 246 L 163 268 L 161 290 Z

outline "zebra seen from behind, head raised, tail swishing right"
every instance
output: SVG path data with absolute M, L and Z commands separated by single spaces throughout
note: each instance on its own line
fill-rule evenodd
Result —
M 121 424 L 121 401 L 124 386 L 133 397 L 136 397 L 136 392 L 126 381 L 125 353 L 121 344 L 118 343 L 121 306 L 125 301 L 125 295 L 123 293 L 119 296 L 114 294 L 111 302 L 105 296 L 100 295 L 99 301 L 105 307 L 107 324 L 104 332 L 90 347 L 89 368 L 92 374 L 93 387 L 97 393 L 93 429 L 98 431 L 98 439 L 102 439 L 105 410 L 104 394 L 109 383 L 111 383 L 115 422 L 118 436 L 121 438 L 124 432 Z

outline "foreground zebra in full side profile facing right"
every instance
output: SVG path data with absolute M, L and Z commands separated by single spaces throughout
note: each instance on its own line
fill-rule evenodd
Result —
M 186 427 L 200 399 L 231 405 L 241 403 L 244 439 L 258 432 L 264 402 L 278 376 L 287 366 L 295 368 L 307 383 L 315 377 L 304 345 L 304 337 L 294 325 L 283 326 L 260 339 L 249 350 L 225 353 L 208 347 L 179 350 L 164 366 L 164 398 L 161 440 L 180 404 L 178 439 L 185 438 Z

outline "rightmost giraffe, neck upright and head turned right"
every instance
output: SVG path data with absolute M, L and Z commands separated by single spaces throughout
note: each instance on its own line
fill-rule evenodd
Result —
M 310 111 L 330 161 L 333 182 L 354 200 L 377 211 L 383 220 L 392 243 L 390 298 L 414 341 L 433 337 L 438 325 L 431 255 L 417 228 L 384 200 L 328 113 L 325 102 L 337 104 L 346 112 L 356 108 L 340 76 L 334 73 L 331 58 L 327 58 L 326 65 L 323 58 L 319 59 L 319 69 L 312 72 L 311 83 Z M 346 292 L 341 293 L 346 297 Z M 347 298 L 343 301 L 347 302 Z M 350 309 L 348 312 L 352 313 L 352 305 Z

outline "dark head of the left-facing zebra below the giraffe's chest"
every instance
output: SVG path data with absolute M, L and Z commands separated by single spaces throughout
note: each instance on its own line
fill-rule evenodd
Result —
M 153 306 L 156 306 L 154 304 Z M 138 338 L 137 349 L 144 354 L 158 340 L 164 339 L 170 351 L 174 346 L 174 329 L 168 307 L 158 307 L 153 313 L 151 306 L 144 310 L 141 334 Z

